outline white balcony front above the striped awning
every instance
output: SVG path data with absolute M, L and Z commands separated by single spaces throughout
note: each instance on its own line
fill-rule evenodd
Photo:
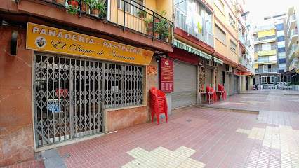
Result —
M 188 29 L 186 25 L 186 17 L 185 13 L 180 11 L 178 8 L 175 8 L 175 25 L 195 38 L 198 38 L 200 41 L 203 41 L 207 45 L 215 48 L 213 33 L 206 30 L 206 36 L 203 36 L 202 34 L 195 32 L 193 29 Z

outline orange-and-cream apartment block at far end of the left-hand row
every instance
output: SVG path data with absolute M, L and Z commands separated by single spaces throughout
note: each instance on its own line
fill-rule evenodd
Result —
M 253 38 L 248 13 L 244 1 L 215 0 L 215 57 L 227 64 L 221 74 L 230 95 L 252 88 Z

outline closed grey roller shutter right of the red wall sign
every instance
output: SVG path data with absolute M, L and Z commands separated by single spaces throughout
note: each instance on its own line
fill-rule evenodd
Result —
M 196 104 L 197 102 L 197 66 L 173 61 L 173 93 L 171 108 Z

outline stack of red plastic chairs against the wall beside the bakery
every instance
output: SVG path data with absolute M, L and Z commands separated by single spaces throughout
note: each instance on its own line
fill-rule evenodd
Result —
M 158 125 L 159 125 L 159 115 L 161 113 L 165 113 L 166 122 L 168 123 L 168 116 L 167 116 L 167 102 L 166 96 L 164 92 L 161 90 L 153 87 L 150 89 L 151 92 L 151 107 L 152 107 L 152 122 L 154 120 L 154 114 L 156 114 Z

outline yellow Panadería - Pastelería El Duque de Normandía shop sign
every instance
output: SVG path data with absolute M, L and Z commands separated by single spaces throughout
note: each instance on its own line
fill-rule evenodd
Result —
M 130 45 L 30 22 L 27 24 L 26 48 L 143 65 L 150 64 L 154 53 Z

